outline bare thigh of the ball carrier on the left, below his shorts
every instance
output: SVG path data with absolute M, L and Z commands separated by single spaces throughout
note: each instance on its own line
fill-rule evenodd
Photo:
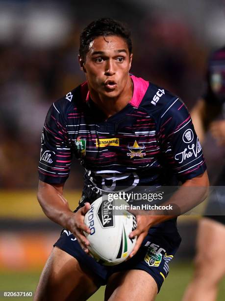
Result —
M 54 247 L 42 271 L 34 301 L 87 300 L 99 286 L 96 277 L 73 256 Z

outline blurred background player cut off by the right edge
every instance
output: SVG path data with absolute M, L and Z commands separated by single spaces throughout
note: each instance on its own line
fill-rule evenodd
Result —
M 225 47 L 209 60 L 207 90 L 192 111 L 192 119 L 200 140 L 209 129 L 219 146 L 225 146 Z M 195 273 L 183 301 L 214 301 L 225 275 L 225 162 L 201 218 L 197 233 Z M 221 187 L 223 186 L 223 187 Z

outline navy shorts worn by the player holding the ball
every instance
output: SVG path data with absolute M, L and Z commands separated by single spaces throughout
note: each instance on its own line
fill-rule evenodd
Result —
M 157 233 L 154 229 L 150 229 L 135 256 L 116 266 L 103 266 L 96 262 L 82 250 L 74 235 L 65 229 L 54 246 L 75 257 L 81 266 L 98 275 L 102 285 L 107 284 L 108 278 L 115 272 L 143 270 L 154 278 L 159 292 L 180 242 L 177 230 L 171 233 Z

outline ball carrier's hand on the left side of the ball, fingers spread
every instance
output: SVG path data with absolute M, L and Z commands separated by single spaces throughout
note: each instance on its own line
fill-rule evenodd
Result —
M 83 231 L 86 233 L 90 233 L 90 229 L 88 226 L 84 224 L 84 215 L 90 209 L 90 203 L 86 203 L 84 207 L 80 208 L 78 211 L 73 212 L 68 219 L 68 226 L 66 227 L 69 229 L 79 242 L 81 248 L 84 250 L 85 253 L 89 253 L 87 246 L 90 244 L 89 241 L 83 234 Z

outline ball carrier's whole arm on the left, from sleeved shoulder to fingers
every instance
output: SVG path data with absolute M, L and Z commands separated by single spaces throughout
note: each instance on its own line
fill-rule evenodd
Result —
M 70 230 L 81 247 L 88 252 L 83 231 L 89 233 L 84 224 L 84 215 L 89 204 L 77 212 L 70 210 L 63 196 L 63 186 L 70 173 L 73 157 L 72 143 L 68 135 L 67 116 L 74 107 L 65 99 L 53 103 L 47 114 L 41 139 L 39 161 L 38 201 L 44 213 L 63 228 Z

